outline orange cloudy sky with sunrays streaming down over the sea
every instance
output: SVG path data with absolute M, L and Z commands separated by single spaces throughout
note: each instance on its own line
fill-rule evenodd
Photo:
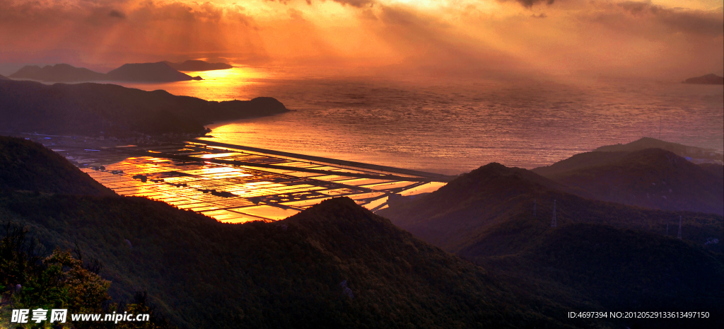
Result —
M 0 0 L 0 74 L 206 59 L 404 75 L 724 71 L 720 0 Z M 321 70 L 321 69 L 320 69 Z

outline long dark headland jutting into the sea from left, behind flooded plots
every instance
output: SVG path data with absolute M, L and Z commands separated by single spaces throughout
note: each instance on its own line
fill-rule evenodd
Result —
M 0 81 L 0 130 L 129 136 L 135 133 L 203 134 L 203 125 L 287 112 L 269 97 L 251 101 L 205 101 L 166 91 L 141 91 L 98 83 L 52 86 Z

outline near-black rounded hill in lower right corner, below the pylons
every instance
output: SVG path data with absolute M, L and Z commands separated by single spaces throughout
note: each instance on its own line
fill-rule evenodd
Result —
M 709 320 L 696 324 L 628 320 L 628 328 L 718 328 L 724 324 L 720 254 L 673 237 L 610 225 L 577 222 L 551 228 L 550 218 L 546 219 L 521 215 L 491 228 L 480 243 L 459 254 L 511 283 L 513 291 L 548 296 L 562 304 L 639 312 L 685 308 L 710 312 Z M 524 242 L 515 250 L 496 249 L 502 255 L 490 253 L 503 238 Z

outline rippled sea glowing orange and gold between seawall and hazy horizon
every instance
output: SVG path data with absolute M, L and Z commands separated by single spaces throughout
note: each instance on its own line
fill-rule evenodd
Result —
M 209 100 L 271 96 L 293 112 L 216 122 L 211 141 L 446 174 L 539 167 L 644 136 L 724 149 L 724 88 L 664 80 L 299 77 L 235 68 L 133 84 Z

